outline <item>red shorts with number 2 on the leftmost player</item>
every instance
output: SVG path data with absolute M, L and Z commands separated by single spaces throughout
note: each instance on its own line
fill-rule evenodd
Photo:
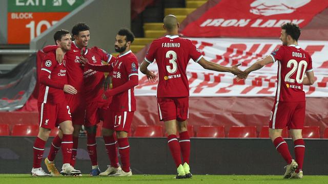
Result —
M 64 121 L 72 121 L 70 107 L 66 102 L 60 104 L 37 103 L 39 110 L 39 126 L 53 129 Z

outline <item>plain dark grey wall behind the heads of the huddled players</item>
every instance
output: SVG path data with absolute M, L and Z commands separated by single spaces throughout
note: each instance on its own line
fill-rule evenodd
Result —
M 58 29 L 72 30 L 77 22 L 86 22 L 90 26 L 89 46 L 97 46 L 112 53 L 115 35 L 120 28 L 129 28 L 131 24 L 130 0 L 89 0 L 73 10 L 54 26 L 34 38 L 30 49 L 42 49 L 54 44 L 53 34 Z

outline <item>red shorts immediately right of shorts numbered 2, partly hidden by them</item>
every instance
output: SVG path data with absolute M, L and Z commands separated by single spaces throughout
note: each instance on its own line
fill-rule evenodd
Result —
M 86 103 L 84 94 L 65 94 L 65 98 L 71 108 L 73 125 L 83 125 L 86 117 Z

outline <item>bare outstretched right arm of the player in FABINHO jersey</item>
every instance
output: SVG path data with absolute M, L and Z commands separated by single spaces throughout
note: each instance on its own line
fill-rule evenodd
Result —
M 200 58 L 198 64 L 200 64 L 203 68 L 207 70 L 212 70 L 217 72 L 230 72 L 240 78 L 245 78 L 247 76 L 243 71 L 239 70 L 238 66 L 240 66 L 240 64 L 233 65 L 232 67 L 227 67 L 208 61 L 203 57 Z

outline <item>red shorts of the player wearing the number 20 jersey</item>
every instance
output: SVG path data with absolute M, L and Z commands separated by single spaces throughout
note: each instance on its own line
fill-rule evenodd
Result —
M 272 129 L 302 129 L 305 117 L 305 102 L 279 102 L 273 105 L 269 127 Z

